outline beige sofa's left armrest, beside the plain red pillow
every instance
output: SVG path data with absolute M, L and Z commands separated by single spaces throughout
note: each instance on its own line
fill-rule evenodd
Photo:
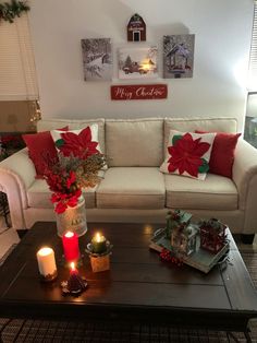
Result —
M 8 196 L 14 228 L 25 228 L 23 210 L 27 208 L 27 189 L 35 176 L 36 170 L 26 147 L 0 163 L 0 190 Z

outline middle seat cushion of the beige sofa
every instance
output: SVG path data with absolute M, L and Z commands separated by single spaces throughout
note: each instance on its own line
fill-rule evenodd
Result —
M 162 209 L 166 188 L 157 167 L 112 167 L 97 189 L 97 208 Z

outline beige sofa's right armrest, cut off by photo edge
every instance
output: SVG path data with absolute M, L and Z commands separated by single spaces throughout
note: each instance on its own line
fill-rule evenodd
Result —
M 245 234 L 257 230 L 257 149 L 238 140 L 233 165 L 233 181 L 238 191 L 238 209 L 245 212 Z

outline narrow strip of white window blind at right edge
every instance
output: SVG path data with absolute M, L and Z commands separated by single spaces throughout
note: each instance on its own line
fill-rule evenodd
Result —
M 249 91 L 257 91 L 257 1 L 254 1 L 254 21 L 249 52 L 249 73 L 248 73 Z

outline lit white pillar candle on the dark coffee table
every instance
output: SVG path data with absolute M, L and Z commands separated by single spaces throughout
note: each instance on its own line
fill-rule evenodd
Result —
M 40 274 L 51 276 L 57 273 L 57 264 L 54 259 L 54 252 L 49 247 L 44 247 L 37 251 L 37 262 Z

